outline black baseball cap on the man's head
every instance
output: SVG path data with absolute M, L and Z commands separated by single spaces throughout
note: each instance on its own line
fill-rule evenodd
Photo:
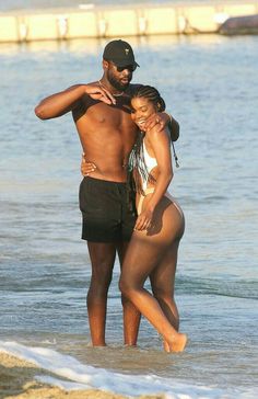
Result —
M 134 68 L 140 67 L 134 59 L 134 54 L 129 43 L 121 39 L 107 43 L 104 48 L 103 58 L 113 61 L 117 67 L 127 67 L 132 65 Z

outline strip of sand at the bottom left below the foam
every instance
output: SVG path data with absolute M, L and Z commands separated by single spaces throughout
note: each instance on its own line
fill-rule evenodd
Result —
M 0 352 L 0 399 L 127 399 L 102 390 L 62 390 L 42 384 L 35 376 L 54 376 L 33 363 Z M 57 376 L 56 376 L 57 377 Z M 57 377 L 58 378 L 58 377 Z M 131 397 L 133 392 L 131 392 Z M 165 399 L 163 395 L 137 396 L 137 399 Z

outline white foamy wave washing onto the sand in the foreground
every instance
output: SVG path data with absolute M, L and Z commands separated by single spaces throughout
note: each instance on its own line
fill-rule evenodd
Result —
M 46 347 L 25 346 L 17 342 L 0 341 L 0 352 L 31 362 L 55 376 L 38 375 L 37 380 L 56 385 L 66 390 L 101 389 L 133 397 L 139 395 L 165 394 L 166 399 L 235 398 L 255 399 L 257 388 L 227 388 L 189 385 L 187 381 L 162 378 L 153 374 L 131 375 L 97 368 L 80 363 Z M 62 379 L 64 378 L 64 379 Z

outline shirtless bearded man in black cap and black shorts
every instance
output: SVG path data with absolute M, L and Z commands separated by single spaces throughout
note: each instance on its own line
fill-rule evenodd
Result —
M 40 119 L 72 112 L 86 161 L 95 166 L 80 186 L 83 216 L 82 239 L 87 241 L 92 278 L 87 293 L 87 312 L 94 346 L 105 342 L 107 292 L 116 253 L 120 264 L 130 240 L 136 212 L 128 200 L 127 162 L 137 137 L 130 116 L 130 98 L 139 84 L 131 84 L 139 65 L 131 46 L 124 41 L 109 42 L 103 54 L 103 77 L 87 84 L 75 84 L 44 99 L 35 109 Z M 157 114 L 150 126 L 169 122 Z M 179 126 L 171 118 L 174 139 Z M 125 343 L 136 345 L 140 314 L 122 298 Z

